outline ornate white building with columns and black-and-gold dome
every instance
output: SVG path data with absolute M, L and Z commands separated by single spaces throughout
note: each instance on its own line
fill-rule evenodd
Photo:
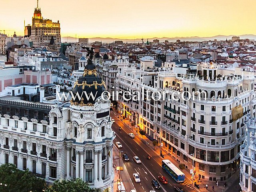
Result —
M 87 88 L 78 83 L 90 84 L 90 80 L 98 82 L 98 92 L 104 91 L 96 71 L 85 70 L 73 88 L 74 94 Z M 56 91 L 60 92 L 59 86 Z M 99 97 L 97 102 L 88 103 L 85 96 L 80 102 L 61 102 L 58 96 L 45 97 L 44 88 L 40 88 L 38 103 L 21 100 L 22 94 L 17 91 L 16 96 L 0 97 L 0 164 L 28 168 L 48 183 L 82 178 L 91 188 L 113 192 L 115 136 L 110 102 Z

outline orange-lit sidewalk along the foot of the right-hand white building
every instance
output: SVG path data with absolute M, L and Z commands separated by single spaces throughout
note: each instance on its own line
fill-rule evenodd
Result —
M 118 116 L 116 114 L 116 112 L 112 112 L 112 113 L 115 116 Z M 144 140 L 144 143 L 146 143 L 152 149 L 153 153 L 155 152 L 157 155 L 160 156 L 160 147 L 156 146 L 156 150 L 153 150 L 154 146 L 152 144 L 152 141 L 150 141 L 146 136 L 143 136 L 143 138 L 142 138 L 142 136 L 140 134 L 137 134 L 136 129 L 134 128 L 134 126 L 132 128 L 131 122 L 129 122 L 126 119 L 122 120 L 122 122 L 126 126 L 128 126 L 128 128 L 130 128 L 134 132 L 134 134 L 138 135 L 142 140 Z M 168 155 L 165 150 L 162 150 L 162 154 L 165 157 L 168 156 L 168 158 L 172 161 L 172 163 L 175 166 L 179 167 L 179 162 L 177 162 L 177 160 L 176 160 L 177 158 L 174 159 L 171 155 Z M 192 169 L 192 167 L 191 167 L 191 169 Z M 189 180 L 189 184 L 191 184 L 191 186 L 194 187 L 194 184 L 192 184 L 191 174 L 190 174 L 189 171 L 190 171 L 190 167 L 188 167 L 188 169 L 185 168 L 184 170 L 182 170 L 182 172 L 185 174 L 186 178 Z M 199 184 L 200 189 L 198 189 L 198 188 L 195 188 L 195 189 L 197 191 L 200 191 L 200 192 L 212 191 L 212 186 L 214 186 L 214 191 L 215 192 L 227 192 L 227 191 L 229 191 L 228 188 L 237 182 L 237 179 L 238 179 L 238 182 L 239 182 L 239 174 L 240 174 L 239 171 L 236 171 L 236 173 L 232 174 L 231 177 L 227 181 L 218 181 L 218 186 L 216 185 L 215 181 L 206 181 L 206 180 L 203 180 L 202 178 L 200 179 L 200 183 L 198 183 L 197 182 L 198 177 L 195 177 L 196 180 L 194 180 L 193 183 L 196 182 L 197 184 Z M 196 175 L 198 175 L 198 174 L 196 174 Z M 224 187 L 224 182 L 227 183 L 227 187 Z M 206 184 L 208 184 L 208 190 L 206 190 Z

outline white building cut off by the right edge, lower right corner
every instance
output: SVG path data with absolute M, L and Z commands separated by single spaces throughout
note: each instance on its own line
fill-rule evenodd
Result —
M 240 150 L 240 186 L 243 192 L 256 192 L 256 120 L 246 121 L 245 140 Z

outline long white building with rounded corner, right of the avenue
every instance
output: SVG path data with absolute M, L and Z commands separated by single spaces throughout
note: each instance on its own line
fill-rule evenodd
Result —
M 255 116 L 254 76 L 219 74 L 213 63 L 198 65 L 196 75 L 175 71 L 118 65 L 117 91 L 145 94 L 140 101 L 120 97 L 118 110 L 187 168 L 192 167 L 194 156 L 196 177 L 227 180 L 239 165 L 245 115 Z M 164 100 L 154 101 L 146 99 L 147 89 L 149 95 L 168 93 L 162 94 Z M 188 100 L 186 96 L 193 92 L 198 93 Z

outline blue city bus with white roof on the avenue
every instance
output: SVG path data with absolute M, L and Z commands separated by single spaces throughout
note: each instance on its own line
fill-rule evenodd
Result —
M 170 160 L 162 160 L 162 168 L 178 183 L 184 182 L 185 174 L 178 169 Z

